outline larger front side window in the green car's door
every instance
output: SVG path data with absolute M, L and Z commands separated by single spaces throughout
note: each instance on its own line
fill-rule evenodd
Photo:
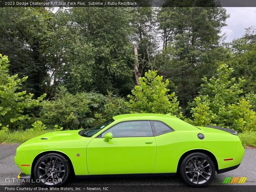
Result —
M 111 132 L 113 137 L 150 137 L 153 136 L 149 121 L 127 121 L 114 125 L 104 133 Z

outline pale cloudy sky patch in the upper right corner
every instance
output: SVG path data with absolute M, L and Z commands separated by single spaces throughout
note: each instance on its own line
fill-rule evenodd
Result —
M 245 28 L 256 26 L 256 7 L 225 7 L 230 18 L 227 25 L 222 29 L 222 34 L 226 33 L 226 42 L 231 42 L 234 38 L 242 37 Z

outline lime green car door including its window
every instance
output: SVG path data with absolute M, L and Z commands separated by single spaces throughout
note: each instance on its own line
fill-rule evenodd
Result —
M 104 141 L 111 132 L 113 139 Z M 152 173 L 156 140 L 150 121 L 121 122 L 93 139 L 87 146 L 90 175 Z

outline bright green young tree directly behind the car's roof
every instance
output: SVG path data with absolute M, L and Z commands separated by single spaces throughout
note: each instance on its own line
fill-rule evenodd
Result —
M 148 71 L 145 77 L 139 78 L 140 86 L 135 86 L 127 105 L 131 113 L 160 113 L 182 116 L 179 101 L 175 92 L 168 94 L 169 80 L 163 82 L 163 76 L 158 76 L 157 71 Z

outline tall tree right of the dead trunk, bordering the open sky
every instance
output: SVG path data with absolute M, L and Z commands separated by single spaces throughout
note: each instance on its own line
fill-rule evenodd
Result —
M 164 7 L 159 10 L 164 50 L 157 68 L 164 78 L 177 86 L 183 110 L 196 95 L 201 78 L 217 68 L 216 62 L 228 57 L 227 51 L 220 47 L 221 28 L 226 26 L 228 16 L 222 7 Z

